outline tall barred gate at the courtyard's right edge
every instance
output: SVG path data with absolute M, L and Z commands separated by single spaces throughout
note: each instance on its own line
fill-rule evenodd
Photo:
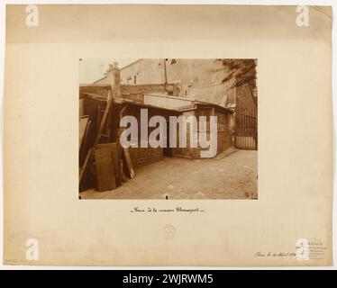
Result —
M 258 149 L 257 108 L 247 107 L 235 112 L 235 147 L 245 150 Z

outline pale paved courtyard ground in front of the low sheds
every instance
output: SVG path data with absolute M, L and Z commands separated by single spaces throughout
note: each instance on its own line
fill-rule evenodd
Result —
M 88 190 L 82 199 L 257 199 L 258 151 L 239 150 L 221 159 L 165 157 L 142 166 L 109 192 Z

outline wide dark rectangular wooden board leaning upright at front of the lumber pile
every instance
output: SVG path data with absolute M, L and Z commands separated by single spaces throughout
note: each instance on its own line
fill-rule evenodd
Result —
M 101 192 L 114 190 L 116 179 L 111 146 L 97 147 L 95 149 L 95 160 L 98 190 Z

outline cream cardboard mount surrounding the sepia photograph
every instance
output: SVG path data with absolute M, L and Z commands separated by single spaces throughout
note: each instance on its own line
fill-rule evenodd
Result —
M 331 32 L 324 6 L 7 5 L 5 264 L 331 266 Z M 79 200 L 80 58 L 258 59 L 258 199 Z

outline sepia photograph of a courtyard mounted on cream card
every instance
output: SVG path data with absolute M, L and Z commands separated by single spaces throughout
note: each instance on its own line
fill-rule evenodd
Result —
M 258 60 L 79 59 L 79 199 L 258 199 Z

